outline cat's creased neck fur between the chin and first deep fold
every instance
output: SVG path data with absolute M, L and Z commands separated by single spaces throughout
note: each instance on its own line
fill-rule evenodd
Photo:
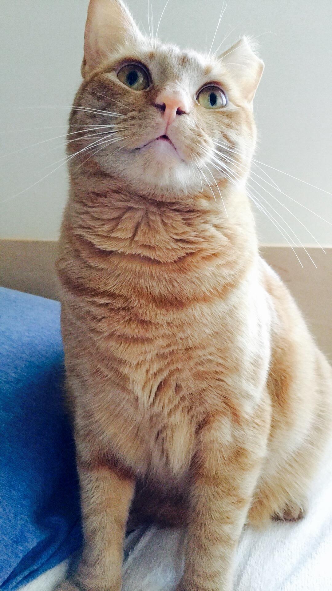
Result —
M 74 233 L 104 252 L 156 264 L 186 258 L 246 259 L 257 250 L 252 213 L 243 189 L 168 200 L 134 193 L 110 177 L 72 181 L 68 216 Z

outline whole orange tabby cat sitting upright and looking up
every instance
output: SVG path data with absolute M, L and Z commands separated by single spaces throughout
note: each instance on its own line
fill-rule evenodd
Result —
M 258 253 L 262 71 L 245 38 L 182 52 L 90 2 L 57 264 L 85 547 L 62 591 L 121 589 L 135 485 L 187 523 L 179 591 L 230 591 L 245 522 L 304 512 L 332 378 Z

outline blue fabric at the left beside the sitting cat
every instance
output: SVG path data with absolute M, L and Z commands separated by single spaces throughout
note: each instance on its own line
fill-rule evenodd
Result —
M 0 587 L 18 589 L 82 543 L 66 415 L 60 304 L 0 288 Z

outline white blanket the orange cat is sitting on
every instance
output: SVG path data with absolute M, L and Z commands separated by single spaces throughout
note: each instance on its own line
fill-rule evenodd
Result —
M 173 591 L 183 570 L 184 532 L 138 528 L 126 540 L 122 591 Z M 21 587 L 53 591 L 66 564 Z M 243 531 L 236 557 L 235 591 L 332 591 L 332 446 L 302 521 L 271 522 Z

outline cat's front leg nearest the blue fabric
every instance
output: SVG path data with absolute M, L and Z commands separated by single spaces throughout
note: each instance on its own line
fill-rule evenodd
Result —
M 84 550 L 73 582 L 61 591 L 120 591 L 123 539 L 134 495 L 134 478 L 117 462 L 78 457 Z M 72 586 L 71 586 L 72 585 Z

